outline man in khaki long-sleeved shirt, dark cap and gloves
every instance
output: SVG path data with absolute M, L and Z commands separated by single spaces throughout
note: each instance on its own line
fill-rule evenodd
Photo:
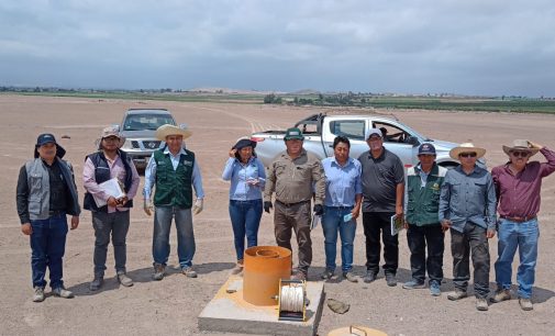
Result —
M 322 215 L 325 177 L 320 160 L 302 148 L 304 137 L 299 128 L 288 128 L 284 137 L 287 149 L 271 163 L 264 189 L 264 211 L 269 213 L 276 192 L 274 225 L 278 246 L 291 249 L 291 229 L 299 244 L 296 279 L 306 280 L 312 262 L 310 238 L 310 199 L 314 192 L 314 213 Z M 314 191 L 313 187 L 314 186 Z

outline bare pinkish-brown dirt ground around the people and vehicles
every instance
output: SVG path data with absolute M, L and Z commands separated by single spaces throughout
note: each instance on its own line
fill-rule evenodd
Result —
M 198 279 L 188 279 L 174 269 L 177 262 L 175 234 L 171 235 L 171 265 L 163 281 L 152 276 L 152 222 L 141 206 L 132 210 L 127 236 L 127 270 L 135 280 L 132 288 L 121 288 L 114 277 L 113 255 L 108 256 L 104 288 L 88 290 L 92 278 L 93 229 L 90 213 L 84 211 L 80 225 L 67 236 L 64 265 L 66 287 L 76 298 L 47 296 L 43 303 L 31 301 L 31 248 L 20 232 L 15 210 L 15 183 L 23 163 L 32 157 L 36 135 L 52 132 L 67 149 L 66 158 L 75 167 L 82 198 L 82 164 L 93 150 L 100 130 L 119 123 L 127 108 L 167 108 L 178 123 L 193 132 L 187 139 L 200 163 L 206 209 L 195 217 L 197 254 L 193 262 Z M 253 131 L 285 128 L 320 110 L 230 103 L 178 103 L 152 101 L 96 100 L 0 96 L 0 334 L 2 335 L 189 335 L 199 334 L 197 316 L 227 279 L 234 267 L 233 235 L 227 214 L 229 183 L 221 179 L 227 150 L 240 136 Z M 345 110 L 332 110 L 348 113 Z M 366 110 L 368 112 L 368 110 Z M 452 142 L 473 141 L 487 148 L 488 166 L 504 163 L 502 144 L 513 138 L 533 139 L 555 148 L 555 116 L 531 114 L 374 111 L 395 113 L 421 133 Z M 62 135 L 70 136 L 63 139 Z M 541 154 L 535 159 L 544 160 Z M 142 178 L 142 183 L 143 183 Z M 141 184 L 142 184 L 141 183 Z M 475 300 L 451 302 L 446 294 L 433 298 L 426 290 L 407 291 L 388 288 L 382 273 L 370 284 L 332 280 L 325 283 L 326 298 L 351 304 L 338 315 L 324 305 L 319 335 L 349 324 L 381 329 L 389 335 L 548 335 L 555 327 L 555 176 L 544 180 L 540 213 L 541 238 L 539 267 L 532 312 L 520 310 L 518 300 L 477 312 Z M 141 202 L 137 202 L 141 205 Z M 365 251 L 360 220 L 355 239 L 355 273 L 364 275 Z M 313 232 L 314 259 L 310 278 L 323 270 L 324 248 L 321 229 Z M 448 235 L 446 246 L 448 245 Z M 263 215 L 259 245 L 275 245 L 273 221 Z M 111 249 L 111 247 L 110 247 Z M 497 238 L 490 240 L 490 288 L 495 289 L 492 269 Z M 452 257 L 444 258 L 444 292 L 453 289 Z M 400 237 L 400 282 L 410 278 L 409 249 L 404 233 Z M 514 279 L 514 276 L 513 276 Z M 514 280 L 513 280 L 514 281 Z M 514 298 L 514 296 L 513 296 Z M 212 334 L 212 333 L 208 333 Z

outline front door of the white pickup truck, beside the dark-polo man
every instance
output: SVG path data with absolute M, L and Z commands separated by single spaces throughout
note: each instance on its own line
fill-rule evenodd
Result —
M 408 131 L 386 122 L 373 122 L 373 127 L 379 128 L 384 135 L 384 147 L 395 153 L 402 161 L 404 169 L 417 164 L 418 144 L 411 142 Z M 409 143 L 411 142 L 411 143 Z

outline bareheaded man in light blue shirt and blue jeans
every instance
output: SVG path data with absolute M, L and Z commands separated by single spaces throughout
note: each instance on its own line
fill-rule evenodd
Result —
M 333 141 L 334 157 L 322 160 L 325 173 L 325 199 L 322 228 L 324 231 L 325 271 L 322 279 L 330 279 L 335 272 L 337 231 L 341 235 L 341 260 L 343 278 L 358 282 L 353 275 L 353 242 L 356 219 L 360 214 L 363 187 L 360 163 L 348 157 L 351 142 L 337 136 Z

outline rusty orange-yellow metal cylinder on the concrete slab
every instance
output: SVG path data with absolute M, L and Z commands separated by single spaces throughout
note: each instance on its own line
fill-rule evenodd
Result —
M 291 250 L 279 246 L 254 246 L 245 250 L 243 300 L 255 305 L 276 305 L 279 279 L 291 277 Z

